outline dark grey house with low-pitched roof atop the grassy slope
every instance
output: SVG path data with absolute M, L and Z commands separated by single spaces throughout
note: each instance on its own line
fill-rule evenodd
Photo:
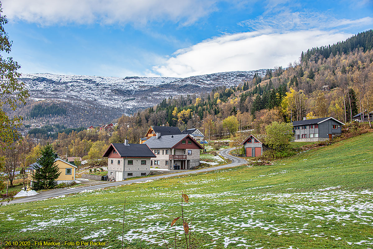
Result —
M 332 140 L 333 137 L 341 135 L 341 125 L 344 125 L 333 117 L 304 119 L 292 124 L 295 142 Z

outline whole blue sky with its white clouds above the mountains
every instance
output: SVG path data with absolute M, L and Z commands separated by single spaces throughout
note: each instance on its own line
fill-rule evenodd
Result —
M 287 66 L 373 27 L 373 1 L 3 0 L 23 73 L 189 77 Z

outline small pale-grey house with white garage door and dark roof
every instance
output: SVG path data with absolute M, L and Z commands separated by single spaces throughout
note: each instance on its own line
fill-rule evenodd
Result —
M 112 143 L 103 157 L 107 157 L 109 179 L 123 181 L 125 178 L 148 175 L 151 158 L 156 155 L 146 144 Z

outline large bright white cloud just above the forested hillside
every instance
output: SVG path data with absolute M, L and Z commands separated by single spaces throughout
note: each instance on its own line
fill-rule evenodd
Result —
M 309 30 L 267 31 L 223 35 L 178 50 L 153 71 L 166 77 L 189 77 L 227 71 L 287 66 L 302 51 L 345 40 L 351 34 Z

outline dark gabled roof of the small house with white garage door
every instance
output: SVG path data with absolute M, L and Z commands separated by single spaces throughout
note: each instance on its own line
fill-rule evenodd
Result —
M 155 158 L 156 155 L 149 149 L 145 144 L 130 143 L 125 145 L 124 143 L 112 143 L 103 156 L 109 156 L 110 148 L 114 147 L 120 157 L 140 157 L 140 158 Z

